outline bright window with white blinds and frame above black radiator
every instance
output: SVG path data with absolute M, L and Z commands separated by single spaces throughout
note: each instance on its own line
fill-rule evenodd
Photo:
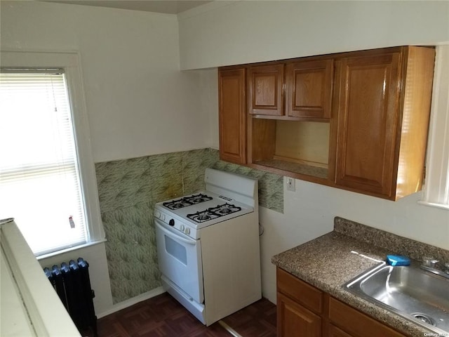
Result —
M 0 218 L 36 256 L 102 241 L 76 54 L 1 57 Z

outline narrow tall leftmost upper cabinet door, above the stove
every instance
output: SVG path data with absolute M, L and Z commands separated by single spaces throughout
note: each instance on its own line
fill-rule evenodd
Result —
M 220 159 L 246 164 L 245 69 L 218 71 Z

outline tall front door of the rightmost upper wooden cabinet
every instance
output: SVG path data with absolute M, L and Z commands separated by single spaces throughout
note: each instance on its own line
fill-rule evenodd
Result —
M 400 53 L 336 62 L 335 183 L 390 197 L 397 173 Z

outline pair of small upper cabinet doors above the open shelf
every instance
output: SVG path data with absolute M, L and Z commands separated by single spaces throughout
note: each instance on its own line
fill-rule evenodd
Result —
M 248 112 L 329 119 L 333 59 L 248 67 Z

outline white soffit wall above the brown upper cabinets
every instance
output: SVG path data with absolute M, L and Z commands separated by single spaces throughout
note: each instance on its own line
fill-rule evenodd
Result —
M 214 1 L 178 17 L 181 69 L 449 41 L 449 1 Z

